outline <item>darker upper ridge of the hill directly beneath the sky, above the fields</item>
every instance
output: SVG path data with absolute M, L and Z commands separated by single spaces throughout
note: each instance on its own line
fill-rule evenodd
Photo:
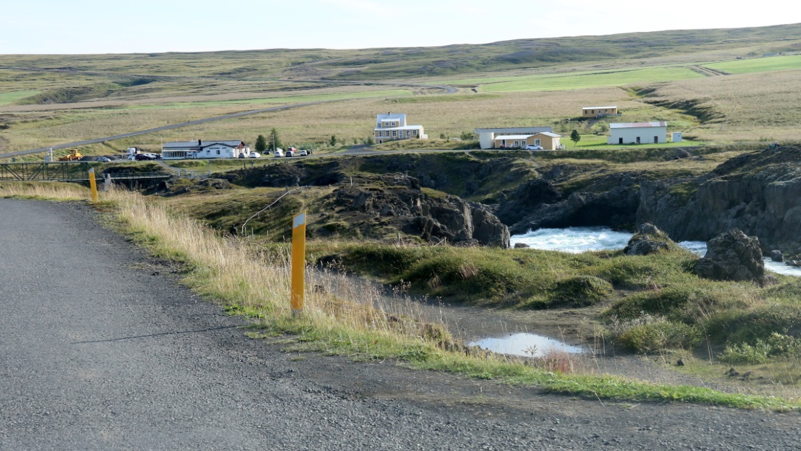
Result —
M 518 39 L 479 45 L 368 50 L 248 50 L 114 55 L 0 55 L 0 67 L 65 72 L 235 79 L 380 80 L 472 74 L 642 58 L 697 61 L 710 54 L 801 51 L 801 24 L 673 30 L 572 38 Z

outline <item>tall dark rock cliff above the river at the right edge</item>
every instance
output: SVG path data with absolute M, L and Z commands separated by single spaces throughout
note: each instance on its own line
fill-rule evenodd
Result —
M 801 148 L 743 154 L 695 179 L 643 180 L 637 220 L 677 240 L 704 241 L 737 228 L 766 249 L 801 253 Z

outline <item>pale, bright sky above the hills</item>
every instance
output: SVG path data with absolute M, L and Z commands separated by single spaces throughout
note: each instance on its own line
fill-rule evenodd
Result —
M 787 0 L 5 0 L 0 54 L 478 44 L 801 22 Z

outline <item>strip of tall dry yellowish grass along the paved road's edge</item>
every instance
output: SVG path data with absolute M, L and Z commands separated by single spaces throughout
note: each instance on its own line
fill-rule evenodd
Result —
M 15 195 L 24 195 L 23 191 L 16 190 Z M 37 193 L 30 191 L 31 196 Z M 72 190 L 51 194 L 58 200 L 74 196 Z M 356 361 L 392 358 L 418 369 L 534 385 L 590 399 L 694 402 L 742 409 L 801 408 L 798 402 L 779 397 L 553 373 L 532 366 L 530 361 L 461 348 L 453 342 L 444 346 L 450 340 L 444 326 L 417 321 L 413 312 L 376 308 L 374 302 L 379 299 L 375 293 L 361 286 L 343 290 L 335 277 L 315 271 L 308 271 L 304 314 L 293 316 L 288 302 L 288 245 L 256 249 L 244 245 L 246 241 L 220 237 L 160 202 L 122 190 L 104 193 L 102 205 L 124 233 L 155 257 L 183 264 L 183 283 L 215 299 L 229 313 L 250 318 L 251 337 L 284 337 L 284 345 L 292 349 L 344 354 Z M 443 349 L 447 346 L 456 346 L 457 351 Z

